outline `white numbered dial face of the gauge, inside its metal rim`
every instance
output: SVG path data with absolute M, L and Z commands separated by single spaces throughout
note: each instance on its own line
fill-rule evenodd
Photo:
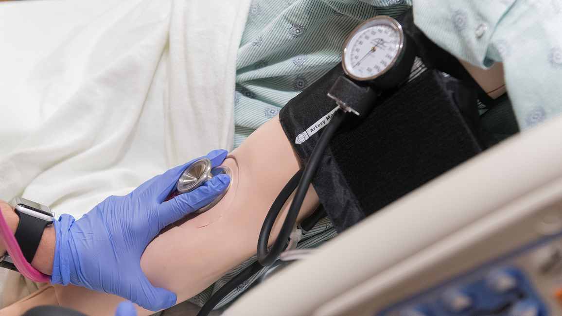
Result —
M 369 78 L 386 69 L 400 48 L 400 34 L 389 25 L 375 25 L 357 33 L 348 43 L 347 70 Z

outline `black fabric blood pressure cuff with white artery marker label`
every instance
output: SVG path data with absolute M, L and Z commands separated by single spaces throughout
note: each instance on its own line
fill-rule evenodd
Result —
M 279 113 L 303 164 L 336 107 L 327 93 L 342 74 L 336 66 Z M 337 231 L 493 144 L 479 123 L 477 94 L 472 84 L 428 69 L 339 130 L 312 180 Z

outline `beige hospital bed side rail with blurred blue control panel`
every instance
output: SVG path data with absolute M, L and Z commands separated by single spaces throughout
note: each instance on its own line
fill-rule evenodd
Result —
M 562 118 L 371 215 L 224 315 L 562 314 Z

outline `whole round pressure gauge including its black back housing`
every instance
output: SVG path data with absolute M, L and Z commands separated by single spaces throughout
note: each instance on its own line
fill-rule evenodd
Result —
M 375 16 L 357 26 L 347 38 L 343 70 L 352 79 L 372 80 L 383 89 L 393 87 L 409 73 L 414 61 L 414 49 L 409 46 L 412 45 L 407 43 L 398 21 Z

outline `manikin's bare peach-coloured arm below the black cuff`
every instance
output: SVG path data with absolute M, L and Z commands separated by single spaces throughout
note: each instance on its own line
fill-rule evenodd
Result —
M 174 292 L 178 296 L 176 303 L 197 295 L 256 254 L 257 236 L 265 215 L 284 185 L 301 168 L 301 161 L 275 116 L 232 151 L 223 165 L 233 173 L 223 199 L 206 213 L 190 214 L 164 228 L 140 259 L 152 285 Z M 270 242 L 277 237 L 289 202 L 273 227 Z M 311 186 L 297 222 L 319 205 Z M 0 310 L 0 315 L 21 315 L 34 306 L 47 304 L 92 316 L 112 316 L 122 301 L 119 296 L 84 287 L 47 285 Z M 138 307 L 137 313 L 140 316 L 154 312 Z

